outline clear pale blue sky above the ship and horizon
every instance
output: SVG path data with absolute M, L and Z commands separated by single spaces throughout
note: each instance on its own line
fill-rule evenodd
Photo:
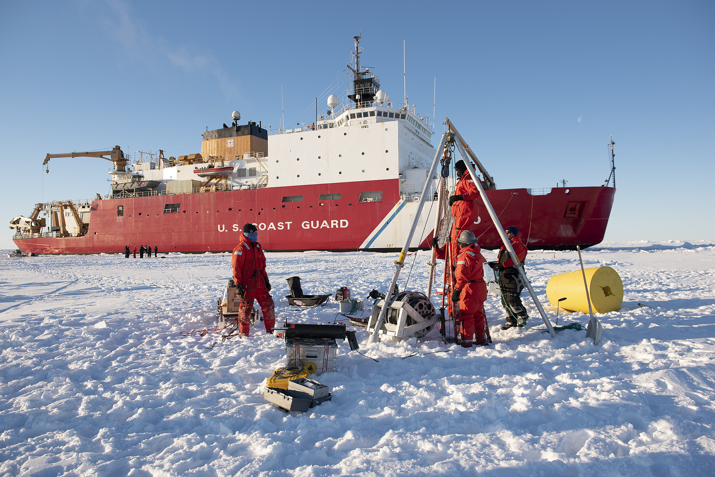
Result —
M 281 85 L 287 127 L 310 121 L 360 33 L 362 64 L 395 101 L 405 41 L 410 104 L 432 118 L 436 77 L 436 117 L 452 119 L 500 188 L 601 185 L 613 135 L 605 239 L 715 239 L 705 1 L 4 1 L 0 220 L 107 194 L 111 163 L 53 159 L 44 174 L 48 152 L 192 154 L 235 109 L 277 127 Z M 0 248 L 14 248 L 8 229 Z

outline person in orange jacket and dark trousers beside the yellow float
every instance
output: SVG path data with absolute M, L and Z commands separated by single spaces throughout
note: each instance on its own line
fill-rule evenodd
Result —
M 519 229 L 511 226 L 504 229 L 504 232 L 506 233 L 506 238 L 511 242 L 511 248 L 514 249 L 519 263 L 523 263 L 528 250 L 519 237 Z M 504 308 L 504 311 L 506 311 L 506 323 L 504 323 L 501 329 L 508 330 L 514 326 L 522 328 L 529 319 L 526 308 L 524 308 L 524 304 L 521 302 L 521 291 L 524 288 L 524 284 L 505 246 L 499 248 L 498 261 L 490 261 L 488 266 L 493 270 L 499 271 L 501 306 Z

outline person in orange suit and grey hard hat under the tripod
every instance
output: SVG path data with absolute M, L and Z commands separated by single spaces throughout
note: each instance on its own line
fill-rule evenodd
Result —
M 459 301 L 459 321 L 462 346 L 471 348 L 487 346 L 485 332 L 484 302 L 487 299 L 487 285 L 484 282 L 482 256 L 477 238 L 471 231 L 463 231 L 457 239 L 460 251 L 455 268 L 456 283 L 452 292 L 452 302 Z

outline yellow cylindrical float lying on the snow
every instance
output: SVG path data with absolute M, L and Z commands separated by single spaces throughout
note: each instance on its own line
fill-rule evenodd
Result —
M 618 311 L 623 303 L 623 282 L 610 266 L 586 268 L 586 283 L 591 296 L 593 313 Z M 546 296 L 552 305 L 572 311 L 588 313 L 586 289 L 583 286 L 581 270 L 559 273 L 548 279 Z M 558 301 L 559 298 L 566 300 Z

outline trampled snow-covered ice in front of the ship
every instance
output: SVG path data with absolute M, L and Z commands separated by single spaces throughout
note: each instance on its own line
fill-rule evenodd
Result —
M 332 323 L 333 301 L 288 306 L 285 278 L 364 298 L 385 291 L 396 254 L 266 256 L 279 322 Z M 426 289 L 428 259 L 408 289 Z M 436 329 L 366 346 L 358 331 L 379 362 L 339 341 L 338 372 L 317 376 L 332 402 L 287 413 L 262 394 L 283 342 L 262 323 L 242 340 L 212 331 L 230 254 L 3 256 L 0 476 L 713 475 L 715 245 L 601 243 L 583 259 L 616 269 L 626 292 L 598 316 L 598 346 L 584 331 L 500 331 L 490 297 L 488 348 L 447 348 Z M 546 281 L 578 268 L 576 252 L 527 258 L 552 323 Z M 571 321 L 588 316 L 559 313 Z

